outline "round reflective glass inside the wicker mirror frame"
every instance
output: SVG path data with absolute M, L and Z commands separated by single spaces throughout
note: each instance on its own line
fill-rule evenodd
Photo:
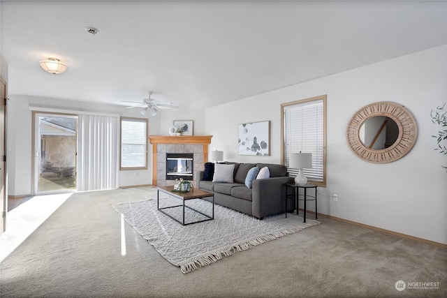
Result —
M 358 131 L 360 141 L 372 150 L 382 150 L 393 146 L 399 137 L 399 127 L 390 117 L 374 116 L 363 122 Z

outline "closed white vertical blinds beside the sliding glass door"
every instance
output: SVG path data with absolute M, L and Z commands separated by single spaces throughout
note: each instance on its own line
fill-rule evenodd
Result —
M 119 118 L 80 114 L 78 191 L 118 187 Z

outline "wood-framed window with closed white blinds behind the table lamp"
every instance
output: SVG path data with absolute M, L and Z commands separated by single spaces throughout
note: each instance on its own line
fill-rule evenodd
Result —
M 281 104 L 282 161 L 288 167 L 291 152 L 312 153 L 312 169 L 303 172 L 309 182 L 326 186 L 326 96 Z M 291 176 L 298 169 L 288 167 Z

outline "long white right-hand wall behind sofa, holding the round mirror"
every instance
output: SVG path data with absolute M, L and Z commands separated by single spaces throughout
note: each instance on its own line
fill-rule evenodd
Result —
M 434 151 L 430 110 L 447 100 L 447 46 L 357 68 L 205 110 L 210 149 L 224 159 L 279 163 L 281 103 L 328 95 L 327 188 L 318 188 L 318 211 L 349 221 L 447 244 L 447 156 Z M 354 112 L 377 101 L 404 105 L 418 124 L 413 149 L 393 163 L 362 161 L 349 149 L 346 125 Z M 237 125 L 271 121 L 271 156 L 239 156 Z M 331 195 L 338 195 L 333 202 Z M 311 209 L 312 209 L 312 204 Z

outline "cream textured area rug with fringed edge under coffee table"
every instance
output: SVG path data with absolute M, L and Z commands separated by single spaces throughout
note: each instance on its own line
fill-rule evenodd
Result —
M 174 206 L 181 203 L 174 198 L 163 198 L 160 207 Z M 212 214 L 212 203 L 206 200 L 189 200 L 189 207 Z M 223 256 L 233 255 L 236 251 L 263 244 L 318 225 L 318 221 L 303 218 L 296 214 L 269 216 L 262 221 L 240 212 L 214 205 L 214 219 L 181 225 L 157 210 L 156 199 L 138 202 L 112 204 L 149 244 L 154 246 L 168 262 L 180 267 L 184 274 L 198 267 L 210 265 Z M 175 218 L 182 218 L 182 207 L 165 209 Z M 185 209 L 185 223 L 205 219 L 201 214 Z

